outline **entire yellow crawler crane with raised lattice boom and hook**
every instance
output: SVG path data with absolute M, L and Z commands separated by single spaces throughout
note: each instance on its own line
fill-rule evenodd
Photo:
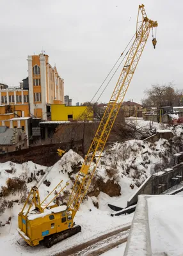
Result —
M 142 17 L 142 19 L 140 19 L 139 16 Z M 107 104 L 107 108 L 99 124 L 99 128 L 93 138 L 92 145 L 90 146 L 84 159 L 84 163 L 81 166 L 81 170 L 76 177 L 76 182 L 68 199 L 67 205 L 58 206 L 55 204 L 49 207 L 49 204 L 46 204 L 43 207 L 45 200 L 40 203 L 38 187 L 35 186 L 31 189 L 29 198 L 22 211 L 19 213 L 18 228 L 20 236 L 22 236 L 31 246 L 35 246 L 41 241 L 44 241 L 45 246 L 51 247 L 52 244 L 56 244 L 58 241 L 81 231 L 80 226 L 74 225 L 74 216 L 76 215 L 79 205 L 83 201 L 92 178 L 96 173 L 97 164 L 99 163 L 107 138 L 122 105 L 125 93 L 131 83 L 139 58 L 141 57 L 147 42 L 150 29 L 156 27 L 157 22 L 148 19 L 144 5 L 139 5 L 134 42 L 129 50 L 127 60 L 125 61 L 125 65 L 123 66 L 118 82 L 116 83 L 115 90 Z M 152 44 L 155 48 L 155 38 L 153 38 Z M 97 157 L 95 157 L 96 153 Z M 63 189 L 61 189 L 61 191 L 63 191 Z M 31 204 L 29 205 L 28 210 L 25 210 L 29 201 L 31 201 Z M 31 205 L 33 204 L 35 205 L 35 214 L 32 214 L 31 212 Z

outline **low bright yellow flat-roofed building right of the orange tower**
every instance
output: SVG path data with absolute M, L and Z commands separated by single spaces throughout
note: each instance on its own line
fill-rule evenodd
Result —
M 88 106 L 51 105 L 52 121 L 93 120 L 93 109 Z

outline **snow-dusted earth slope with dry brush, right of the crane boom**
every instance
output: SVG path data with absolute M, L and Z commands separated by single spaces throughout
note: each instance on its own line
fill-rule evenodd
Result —
M 105 175 L 106 168 L 113 168 L 118 173 L 120 182 L 129 179 L 132 184 L 140 186 L 150 175 L 152 163 L 161 162 L 162 156 L 168 159 L 170 154 L 170 144 L 164 139 L 154 144 L 141 140 L 115 143 L 100 159 L 99 170 L 103 171 L 98 175 Z

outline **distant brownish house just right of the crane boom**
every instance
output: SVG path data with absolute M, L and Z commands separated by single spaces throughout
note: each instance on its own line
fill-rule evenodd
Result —
M 125 117 L 129 116 L 137 116 L 142 117 L 143 108 L 141 104 L 138 104 L 134 101 L 125 101 L 122 103 L 122 110 L 124 112 Z

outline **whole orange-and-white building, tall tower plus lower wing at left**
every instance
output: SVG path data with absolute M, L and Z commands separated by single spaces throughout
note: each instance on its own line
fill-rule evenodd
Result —
M 1 84 L 0 126 L 21 127 L 29 139 L 32 132 L 30 118 L 47 120 L 51 115 L 51 104 L 64 104 L 64 81 L 56 67 L 51 67 L 46 54 L 28 56 L 28 77 L 24 80 L 26 86 L 23 82 L 20 88 Z

